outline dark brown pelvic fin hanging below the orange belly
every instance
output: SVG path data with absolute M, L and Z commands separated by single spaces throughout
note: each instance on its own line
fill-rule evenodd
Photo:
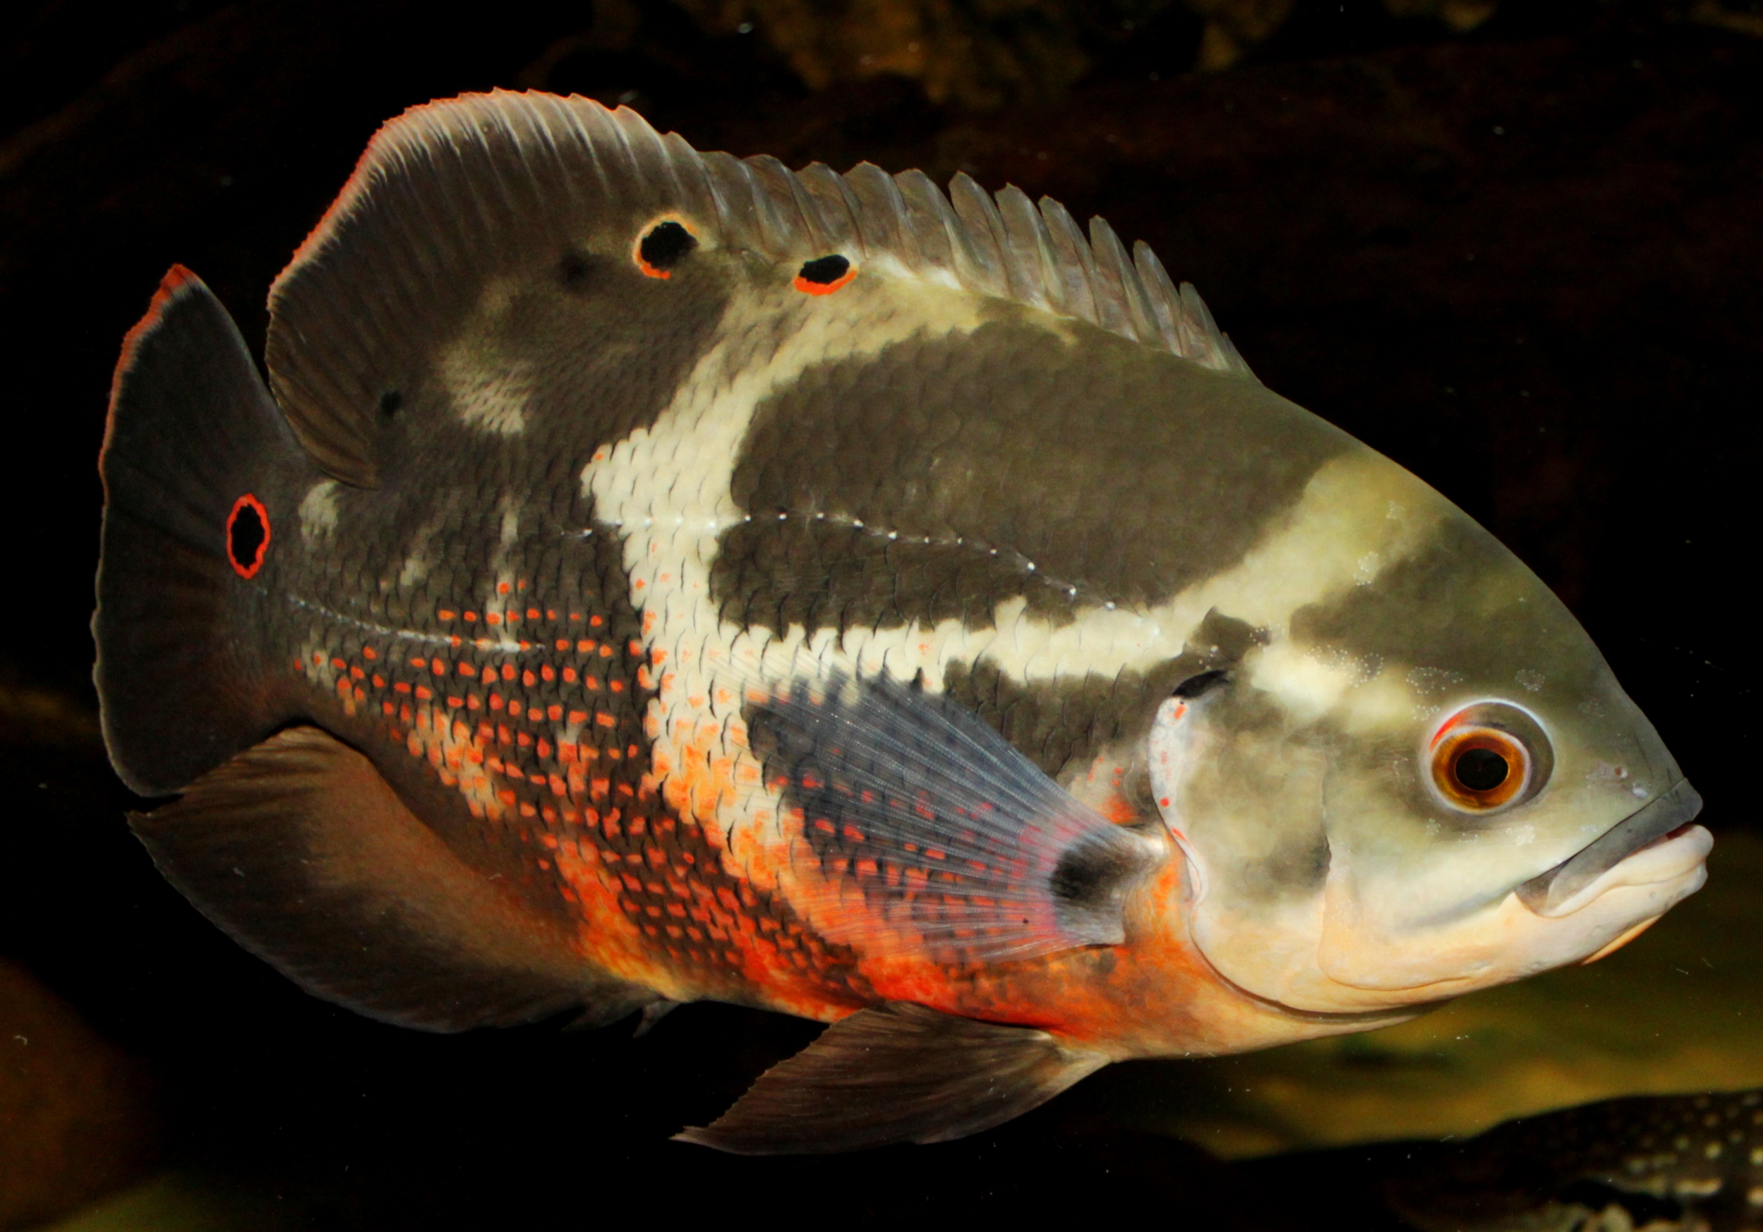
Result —
M 1017 1117 L 1104 1065 L 1045 1031 L 889 1003 L 832 1024 L 712 1124 L 677 1139 L 733 1154 L 947 1142 Z

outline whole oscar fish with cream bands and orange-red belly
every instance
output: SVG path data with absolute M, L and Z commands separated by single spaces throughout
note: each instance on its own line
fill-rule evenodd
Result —
M 432 1031 L 830 1024 L 684 1139 L 933 1142 L 1596 959 L 1701 802 L 1564 605 L 1100 219 L 629 109 L 388 123 L 173 268 L 100 458 L 159 869 Z

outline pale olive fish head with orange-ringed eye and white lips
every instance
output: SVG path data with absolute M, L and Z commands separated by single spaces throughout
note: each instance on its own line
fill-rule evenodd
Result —
M 1419 1006 L 1601 957 L 1700 888 L 1701 802 L 1566 605 L 1395 464 L 1333 471 L 1320 504 L 1359 516 L 1328 552 L 1363 568 L 1179 684 L 1146 744 L 1218 973 Z M 1291 592 L 1287 557 L 1239 590 Z

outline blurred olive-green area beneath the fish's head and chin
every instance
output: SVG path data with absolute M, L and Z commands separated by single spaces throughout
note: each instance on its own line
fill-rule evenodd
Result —
M 1224 1158 L 1467 1137 L 1620 1095 L 1763 1086 L 1763 839 L 1722 834 L 1708 885 L 1592 966 L 1402 1026 L 1250 1056 L 1116 1066 L 1079 1098 Z

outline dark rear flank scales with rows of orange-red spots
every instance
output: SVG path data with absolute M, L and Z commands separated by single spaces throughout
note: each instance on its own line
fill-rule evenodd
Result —
M 483 536 L 465 525 L 446 538 Z M 652 943 L 651 978 L 760 1001 L 785 964 L 822 996 L 860 1003 L 850 952 L 804 931 L 776 894 L 726 874 L 693 813 L 661 798 L 643 712 L 666 654 L 643 649 L 628 605 L 605 603 L 617 590 L 584 587 L 610 573 L 603 543 L 564 531 L 511 582 L 497 580 L 506 568 L 455 562 L 444 589 L 393 583 L 361 619 L 314 620 L 296 633 L 314 649 L 293 664 L 312 717 L 388 777 L 414 770 L 414 791 L 455 793 L 453 807 L 485 821 L 485 841 L 568 902 L 584 934 L 596 925 L 591 887 L 610 894 Z M 386 571 L 372 557 L 360 569 L 342 553 L 307 559 L 321 569 L 312 596 L 294 578 L 264 582 L 300 613 L 326 612 L 324 599 L 361 608 L 349 576 Z

